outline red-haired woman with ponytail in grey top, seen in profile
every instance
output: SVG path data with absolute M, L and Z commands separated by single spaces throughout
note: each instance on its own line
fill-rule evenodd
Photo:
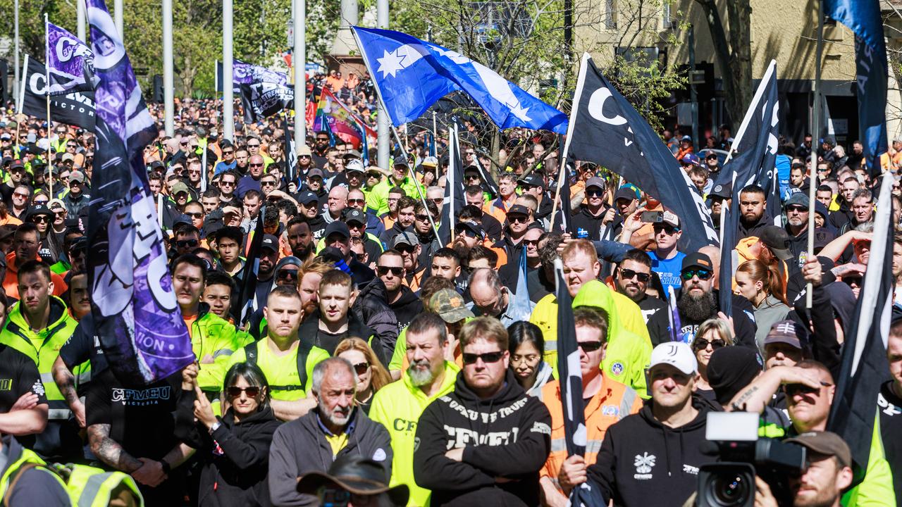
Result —
M 769 267 L 758 259 L 741 263 L 733 277 L 736 282 L 735 292 L 755 307 L 755 342 L 761 355 L 764 355 L 764 338 L 768 336 L 770 326 L 785 320 L 792 309 L 786 300 L 783 279 L 776 269 Z

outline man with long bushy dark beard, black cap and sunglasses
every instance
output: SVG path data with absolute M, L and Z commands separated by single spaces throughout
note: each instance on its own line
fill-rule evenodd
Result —
M 727 316 L 720 311 L 717 290 L 713 289 L 714 266 L 711 257 L 704 253 L 690 253 L 683 259 L 680 270 L 682 286 L 676 297 L 676 309 L 679 310 L 680 328 L 677 332 L 679 340 L 691 344 L 695 340 L 695 331 L 709 318 Z M 754 309 L 749 300 L 732 294 L 732 327 L 736 345 L 751 346 L 755 343 Z

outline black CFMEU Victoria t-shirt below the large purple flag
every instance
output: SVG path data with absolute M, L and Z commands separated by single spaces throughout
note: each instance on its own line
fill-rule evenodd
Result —
M 107 368 L 87 389 L 87 424 L 109 424 L 110 437 L 125 452 L 160 460 L 179 443 L 174 433 L 180 394 L 180 372 L 150 385 L 125 387 Z

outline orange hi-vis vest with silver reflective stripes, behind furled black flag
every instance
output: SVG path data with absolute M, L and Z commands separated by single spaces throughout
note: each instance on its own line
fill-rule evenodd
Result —
M 597 461 L 608 427 L 642 408 L 642 399 L 635 390 L 602 375 L 602 388 L 586 403 L 584 410 L 587 440 L 583 458 L 586 466 Z M 557 485 L 557 474 L 567 457 L 560 382 L 545 384 L 538 399 L 545 403 L 551 414 L 551 453 L 538 474 L 551 478 Z

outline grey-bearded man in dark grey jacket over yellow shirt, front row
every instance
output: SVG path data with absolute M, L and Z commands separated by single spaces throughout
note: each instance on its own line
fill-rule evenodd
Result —
M 272 504 L 319 505 L 316 495 L 296 489 L 298 477 L 327 472 L 340 456 L 362 456 L 382 465 L 391 477 L 391 438 L 382 424 L 355 407 L 357 373 L 345 358 L 331 357 L 313 368 L 317 408 L 281 425 L 272 436 L 269 486 Z

